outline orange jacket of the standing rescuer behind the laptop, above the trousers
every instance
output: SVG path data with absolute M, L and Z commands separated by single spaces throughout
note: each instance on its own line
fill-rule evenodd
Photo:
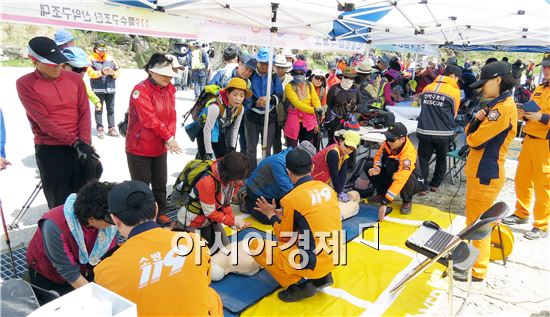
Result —
M 470 124 L 466 127 L 466 142 L 470 147 L 466 177 L 479 178 L 482 184 L 504 178 L 506 153 L 516 136 L 518 121 L 516 103 L 509 92 L 493 99 L 488 106 L 490 111 L 477 130 L 470 132 Z

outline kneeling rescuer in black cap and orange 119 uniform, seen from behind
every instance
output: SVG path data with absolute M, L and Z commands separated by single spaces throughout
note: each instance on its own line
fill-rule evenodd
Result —
M 257 239 L 250 240 L 250 249 L 264 247 L 254 260 L 264 267 L 284 288 L 277 295 L 284 302 L 296 302 L 315 295 L 318 289 L 334 283 L 332 270 L 338 254 L 329 242 L 338 239 L 342 230 L 338 198 L 327 184 L 311 177 L 313 168 L 309 154 L 300 149 L 289 152 L 285 158 L 288 176 L 294 188 L 281 199 L 281 208 L 275 202 L 260 197 L 256 210 L 263 213 L 273 226 L 280 246 L 269 246 Z M 309 243 L 299 243 L 306 239 Z M 297 237 L 290 240 L 291 237 Z M 334 244 L 332 244 L 334 245 Z M 282 249 L 284 248 L 284 249 Z M 295 255 L 300 256 L 298 260 Z M 297 267 L 299 266 L 299 267 Z

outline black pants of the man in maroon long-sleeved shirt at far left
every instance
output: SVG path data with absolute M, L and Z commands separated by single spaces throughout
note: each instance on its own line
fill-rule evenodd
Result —
M 95 170 L 88 161 L 78 159 L 76 150 L 68 145 L 35 145 L 36 165 L 48 208 L 63 205 L 71 193 L 76 193 L 92 180 Z

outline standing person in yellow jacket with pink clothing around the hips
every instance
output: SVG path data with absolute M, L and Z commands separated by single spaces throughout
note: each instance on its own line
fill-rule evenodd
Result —
M 313 143 L 319 130 L 316 113 L 322 113 L 321 101 L 315 87 L 307 81 L 307 64 L 297 60 L 292 65 L 292 81 L 285 86 L 287 118 L 284 133 L 286 145 L 296 147 L 301 141 Z

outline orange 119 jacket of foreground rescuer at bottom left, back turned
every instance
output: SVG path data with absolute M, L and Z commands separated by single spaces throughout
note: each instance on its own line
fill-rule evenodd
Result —
M 222 316 L 221 299 L 209 287 L 208 248 L 194 233 L 178 235 L 154 222 L 138 225 L 95 267 L 95 282 L 136 303 L 138 316 Z M 185 248 L 191 251 L 182 256 Z

